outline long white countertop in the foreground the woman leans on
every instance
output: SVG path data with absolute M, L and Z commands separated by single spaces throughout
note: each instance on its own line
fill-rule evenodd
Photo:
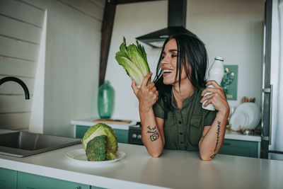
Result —
M 113 164 L 77 164 L 64 154 L 82 145 L 17 158 L 0 155 L 0 167 L 103 188 L 282 188 L 283 161 L 164 150 L 159 158 L 144 146 L 119 144 L 125 158 Z

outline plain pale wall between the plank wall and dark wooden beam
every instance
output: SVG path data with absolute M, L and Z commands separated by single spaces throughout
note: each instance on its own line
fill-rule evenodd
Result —
M 47 9 L 43 132 L 72 137 L 71 120 L 98 115 L 104 1 L 25 1 Z

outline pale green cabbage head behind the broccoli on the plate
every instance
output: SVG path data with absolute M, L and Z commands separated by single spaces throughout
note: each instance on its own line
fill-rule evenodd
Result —
M 90 142 L 95 137 L 101 135 L 105 135 L 107 137 L 106 139 L 107 148 L 106 151 L 102 151 L 100 153 L 106 153 L 107 160 L 115 159 L 115 152 L 118 149 L 117 137 L 112 127 L 104 123 L 98 123 L 88 129 L 88 131 L 84 134 L 83 139 L 81 139 L 81 143 L 83 144 L 83 149 L 86 151 L 88 142 Z

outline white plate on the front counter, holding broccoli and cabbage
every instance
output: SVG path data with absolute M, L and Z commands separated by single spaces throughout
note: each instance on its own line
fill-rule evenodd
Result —
M 101 165 L 101 164 L 112 164 L 115 161 L 118 161 L 126 156 L 124 151 L 116 151 L 116 158 L 113 160 L 108 161 L 88 161 L 86 158 L 86 151 L 84 149 L 74 149 L 71 151 L 68 151 L 65 156 L 67 156 L 68 159 L 71 159 L 72 161 L 75 161 L 79 164 L 88 164 L 88 165 Z

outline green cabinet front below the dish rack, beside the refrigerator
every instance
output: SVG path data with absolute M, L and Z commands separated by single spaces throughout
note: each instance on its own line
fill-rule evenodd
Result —
M 258 157 L 258 142 L 236 139 L 224 139 L 219 154 L 233 156 Z

